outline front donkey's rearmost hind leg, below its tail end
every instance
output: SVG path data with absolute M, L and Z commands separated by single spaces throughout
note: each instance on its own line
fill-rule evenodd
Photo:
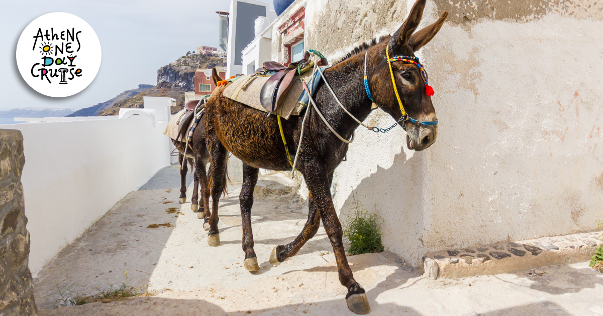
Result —
M 218 230 L 218 202 L 226 185 L 226 163 L 228 155 L 221 143 L 215 143 L 210 150 L 212 160 L 212 214 L 209 215 L 209 232 L 207 232 L 207 244 L 212 247 L 220 245 L 220 234 Z

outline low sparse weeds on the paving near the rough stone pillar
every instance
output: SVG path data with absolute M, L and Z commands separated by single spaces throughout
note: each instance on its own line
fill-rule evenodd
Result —
M 95 289 L 98 291 L 96 294 L 92 294 L 90 296 L 82 296 L 80 293 L 82 292 L 82 288 L 75 283 L 71 283 L 65 289 L 62 289 L 60 285 L 57 283 L 57 291 L 60 299 L 57 299 L 57 303 L 60 306 L 74 306 L 74 305 L 83 305 L 86 303 L 94 303 L 94 302 L 112 302 L 114 300 L 121 300 L 127 297 L 136 297 L 136 296 L 147 296 L 147 288 L 148 285 L 141 285 L 138 287 L 132 287 L 131 285 L 127 285 L 128 282 L 128 273 L 125 273 L 125 280 L 121 284 L 109 284 L 108 288 L 104 288 L 100 290 L 98 287 Z

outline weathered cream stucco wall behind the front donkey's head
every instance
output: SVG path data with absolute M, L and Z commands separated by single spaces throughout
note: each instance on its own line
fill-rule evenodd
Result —
M 306 48 L 336 60 L 393 33 L 412 4 L 292 7 L 306 7 Z M 336 208 L 345 213 L 358 193 L 384 219 L 385 248 L 413 265 L 435 250 L 595 229 L 603 213 L 602 8 L 601 1 L 428 1 L 419 29 L 450 11 L 437 37 L 415 52 L 435 89 L 437 141 L 412 152 L 401 128 L 358 129 L 335 172 Z M 393 123 L 380 110 L 367 120 Z

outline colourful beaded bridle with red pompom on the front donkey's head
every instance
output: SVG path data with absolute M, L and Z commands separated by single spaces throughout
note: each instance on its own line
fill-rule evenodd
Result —
M 418 57 L 399 55 L 399 56 L 390 58 L 390 43 L 387 43 L 387 47 L 385 48 L 385 55 L 387 56 L 387 65 L 390 68 L 391 84 L 394 86 L 394 93 L 396 93 L 396 99 L 398 100 L 398 105 L 400 106 L 400 111 L 402 112 L 402 116 L 400 116 L 400 119 L 397 120 L 396 123 L 394 123 L 394 125 L 390 126 L 389 128 L 383 129 L 383 128 L 377 128 L 376 126 L 373 126 L 370 128 L 371 131 L 387 132 L 390 129 L 394 128 L 394 126 L 398 125 L 398 123 L 404 122 L 405 120 L 408 120 L 412 123 L 418 123 L 420 125 L 437 125 L 438 120 L 419 121 L 419 120 L 413 119 L 408 114 L 406 114 L 406 111 L 404 110 L 404 105 L 402 104 L 402 99 L 400 99 L 400 94 L 398 93 L 398 88 L 396 87 L 396 79 L 394 79 L 394 70 L 391 67 L 391 63 L 394 63 L 396 61 L 402 61 L 402 63 L 414 64 L 415 66 L 417 66 L 419 72 L 421 73 L 421 78 L 423 78 L 423 82 L 425 83 L 425 94 L 427 94 L 428 96 L 434 95 L 434 89 L 431 87 L 431 85 L 429 85 L 427 83 L 427 72 L 425 72 L 425 67 L 423 67 L 423 65 L 418 61 Z M 367 57 L 368 57 L 368 50 L 364 53 L 364 90 L 367 92 L 368 99 L 373 101 L 373 96 L 371 94 L 371 90 L 368 87 Z M 406 131 L 406 126 L 404 124 L 402 124 L 402 128 Z

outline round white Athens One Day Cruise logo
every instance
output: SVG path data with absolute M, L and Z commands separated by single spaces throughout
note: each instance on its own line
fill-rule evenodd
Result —
M 17 67 L 30 87 L 54 98 L 84 90 L 101 66 L 101 43 L 86 21 L 54 12 L 33 20 L 17 43 Z

